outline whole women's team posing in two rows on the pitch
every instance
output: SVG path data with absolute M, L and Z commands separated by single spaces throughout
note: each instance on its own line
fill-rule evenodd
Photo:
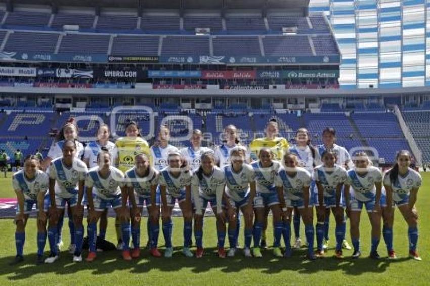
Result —
M 323 144 L 315 147 L 305 128 L 297 130 L 295 144 L 291 146 L 286 139 L 277 137 L 276 120 L 269 121 L 264 131 L 265 138 L 244 146 L 238 140 L 236 127 L 228 125 L 224 128 L 224 143 L 212 150 L 201 146 L 202 132 L 195 129 L 191 146 L 179 150 L 169 144 L 167 126 L 160 126 L 155 144 L 149 147 L 140 137 L 137 123 L 128 121 L 126 136 L 118 138 L 115 144 L 109 141 L 109 126 L 102 124 L 98 127 L 97 140 L 83 147 L 76 139 L 78 128 L 74 119 L 69 119 L 47 157 L 40 160 L 39 155 L 27 155 L 23 168 L 13 175 L 18 209 L 17 255 L 12 263 L 24 260 L 25 225 L 34 205 L 37 263 L 54 263 L 59 259 L 66 208 L 71 235 L 69 251 L 73 254 L 70 259 L 74 262 L 83 260 L 83 221 L 87 221 L 88 235 L 85 261 L 103 257 L 97 255 L 96 241 L 106 235 L 108 208 L 116 213 L 117 248 L 124 260 L 139 258 L 140 240 L 146 238 L 150 255 L 171 258 L 171 216 L 175 203 L 179 204 L 184 220 L 182 254 L 190 258 L 203 257 L 202 226 L 209 203 L 216 215 L 213 231 L 217 233 L 220 258 L 262 257 L 261 248 L 269 244 L 266 241 L 268 223 L 273 224 L 273 255 L 291 257 L 294 248 L 302 247 L 299 237 L 302 221 L 308 249 L 306 259 L 324 258 L 332 213 L 334 257 L 344 259 L 343 249 L 352 249 L 351 258 L 357 259 L 362 255 L 359 222 L 364 206 L 371 223 L 371 249 L 363 251 L 372 259 L 380 259 L 378 245 L 382 232 L 388 259 L 397 259 L 393 248 L 397 206 L 408 225 L 409 257 L 421 260 L 416 251 L 418 213 L 415 208 L 421 176 L 411 168 L 409 151 L 399 151 L 394 166 L 383 174 L 372 166 L 365 152 L 350 156 L 344 147 L 336 145 L 333 128 L 322 130 Z M 88 211 L 85 218 L 84 206 Z M 148 210 L 147 231 L 141 231 L 144 207 Z M 163 254 L 157 248 L 160 218 L 165 240 Z M 347 218 L 352 247 L 346 240 Z M 243 233 L 243 254 L 237 253 L 240 232 Z M 195 253 L 190 249 L 192 233 Z M 295 239 L 291 241 L 294 234 Z M 50 254 L 44 257 L 47 239 Z

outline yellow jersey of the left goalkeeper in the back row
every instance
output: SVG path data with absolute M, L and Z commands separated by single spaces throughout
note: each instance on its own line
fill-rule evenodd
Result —
M 138 154 L 145 153 L 151 160 L 148 142 L 141 137 L 119 138 L 115 142 L 115 147 L 117 150 L 118 169 L 124 173 L 135 166 L 135 156 Z

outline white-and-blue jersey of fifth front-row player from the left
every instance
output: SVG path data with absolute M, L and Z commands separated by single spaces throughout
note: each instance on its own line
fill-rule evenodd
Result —
M 158 184 L 166 187 L 167 194 L 174 198 L 179 198 L 181 191 L 186 186 L 191 185 L 191 177 L 192 174 L 190 171 L 181 171 L 179 177 L 174 177 L 170 173 L 170 168 L 167 167 L 161 170 Z

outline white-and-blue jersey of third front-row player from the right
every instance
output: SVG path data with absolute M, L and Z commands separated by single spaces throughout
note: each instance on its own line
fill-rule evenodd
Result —
M 345 183 L 347 179 L 347 171 L 337 164 L 334 164 L 333 171 L 327 172 L 324 165 L 320 165 L 314 169 L 313 178 L 316 182 L 320 182 L 324 188 L 324 197 L 336 196 L 336 187 L 338 184 Z

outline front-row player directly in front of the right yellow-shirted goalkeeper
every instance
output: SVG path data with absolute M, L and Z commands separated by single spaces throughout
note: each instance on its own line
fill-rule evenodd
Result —
M 254 257 L 262 257 L 260 251 L 260 239 L 263 223 L 266 216 L 266 208 L 270 208 L 273 214 L 274 248 L 273 254 L 282 257 L 281 236 L 283 223 L 281 221 L 281 209 L 279 207 L 279 194 L 275 186 L 275 178 L 280 169 L 280 163 L 273 161 L 273 153 L 269 148 L 262 148 L 259 152 L 259 161 L 253 162 L 255 171 L 257 193 L 254 198 L 255 224 L 254 224 Z

